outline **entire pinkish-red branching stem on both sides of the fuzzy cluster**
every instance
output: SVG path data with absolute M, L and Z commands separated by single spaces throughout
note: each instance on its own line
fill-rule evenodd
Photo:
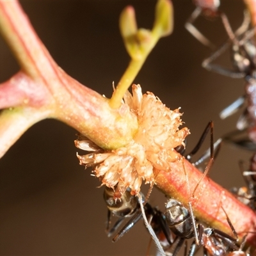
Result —
M 125 105 L 115 110 L 109 108 L 108 99 L 63 72 L 52 60 L 17 1 L 0 1 L 0 27 L 22 67 L 22 72 L 0 86 L 1 95 L 7 95 L 8 90 L 14 92 L 12 99 L 0 100 L 0 108 L 15 106 L 4 110 L 0 116 L 0 134 L 4 134 L 1 138 L 8 142 L 6 146 L 0 140 L 1 156 L 30 125 L 44 118 L 65 122 L 103 148 L 117 148 L 131 141 L 138 125 L 134 115 Z M 44 97 L 37 91 L 43 92 Z M 13 131 L 16 132 L 15 139 Z M 171 166 L 173 172 L 158 173 L 157 186 L 166 195 L 188 204 L 191 191 L 202 173 L 184 161 L 191 187 L 189 192 L 182 161 Z M 256 230 L 255 213 L 218 184 L 205 178 L 196 191 L 193 211 L 198 219 L 230 233 L 221 205 L 237 232 Z M 254 234 L 249 234 L 248 239 L 255 245 L 253 238 L 256 240 Z

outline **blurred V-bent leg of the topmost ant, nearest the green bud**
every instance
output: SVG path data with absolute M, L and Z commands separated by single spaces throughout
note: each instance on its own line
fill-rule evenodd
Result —
M 202 9 L 200 7 L 197 7 L 194 12 L 191 14 L 189 19 L 187 20 L 185 24 L 185 28 L 193 35 L 201 44 L 214 49 L 215 45 L 212 44 L 212 42 L 207 39 L 194 25 L 193 22 L 198 18 L 198 16 L 202 13 Z

